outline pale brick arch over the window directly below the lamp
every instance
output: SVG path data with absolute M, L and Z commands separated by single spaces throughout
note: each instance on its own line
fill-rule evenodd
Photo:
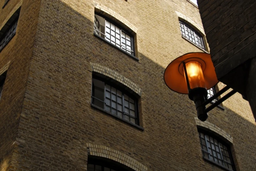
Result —
M 230 143 L 233 143 L 233 137 L 231 135 L 229 135 L 226 131 L 224 131 L 223 129 L 217 127 L 216 125 L 208 122 L 208 121 L 200 121 L 197 117 L 195 117 L 195 123 L 197 126 L 201 126 L 204 128 L 208 128 L 211 131 L 219 134 L 220 136 L 222 136 L 223 138 L 225 138 L 226 140 L 228 140 Z

